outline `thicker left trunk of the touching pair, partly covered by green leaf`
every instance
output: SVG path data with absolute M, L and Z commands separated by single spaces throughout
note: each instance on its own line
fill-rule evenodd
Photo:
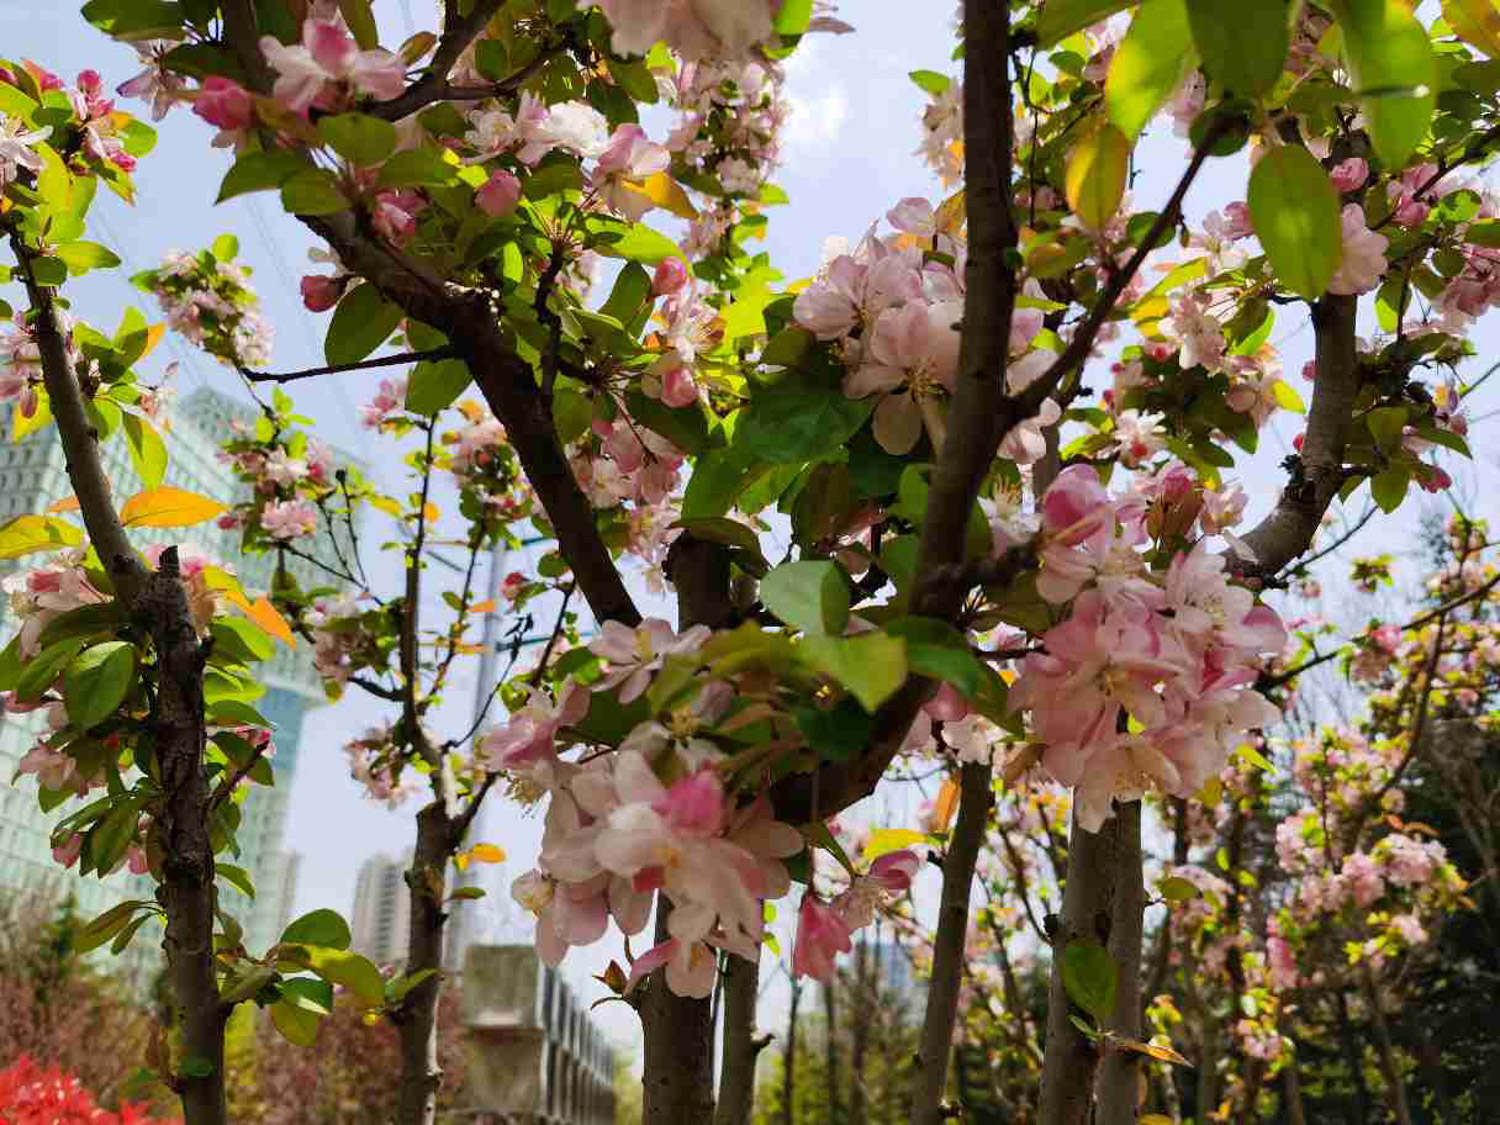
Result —
M 1078 826 L 1074 814 L 1068 836 L 1068 882 L 1062 892 L 1062 918 L 1052 934 L 1052 987 L 1047 993 L 1047 1053 L 1041 1076 L 1041 1120 L 1046 1125 L 1084 1125 L 1094 1101 L 1100 1053 L 1070 1020 L 1068 990 L 1062 982 L 1062 956 L 1068 942 L 1096 940 L 1108 946 L 1114 926 L 1114 894 L 1128 832 L 1122 812 L 1098 832 Z M 1140 862 L 1138 834 L 1134 849 Z M 1138 954 L 1137 954 L 1138 957 Z M 1138 986 L 1137 986 L 1138 987 Z M 1203 1108 L 1200 1107 L 1200 1114 Z

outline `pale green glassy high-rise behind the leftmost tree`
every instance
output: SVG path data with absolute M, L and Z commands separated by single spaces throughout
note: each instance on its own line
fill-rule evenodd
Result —
M 254 424 L 255 418 L 254 406 L 216 392 L 198 390 L 188 396 L 172 411 L 172 428 L 165 435 L 170 456 L 165 483 L 220 501 L 243 498 L 244 486 L 234 478 L 226 465 L 219 462 L 218 448 L 228 436 L 232 423 Z M 9 429 L 9 412 L 0 412 L 0 434 L 8 434 Z M 116 436 L 106 441 L 102 458 L 117 502 L 123 502 L 141 489 L 140 476 L 130 464 L 123 440 Z M 0 522 L 42 512 L 70 494 L 63 448 L 52 428 L 33 434 L 21 442 L 0 438 Z M 201 550 L 232 567 L 248 591 L 264 591 L 270 586 L 273 558 L 242 555 L 238 534 L 222 531 L 213 524 L 186 530 L 132 528 L 130 536 L 141 546 L 178 543 L 184 549 Z M 0 562 L 0 576 L 26 568 L 33 561 L 21 558 Z M 288 570 L 303 585 L 328 584 L 326 574 L 315 572 L 312 564 L 302 560 L 290 560 Z M 9 606 L 0 598 L 0 639 L 8 639 L 12 630 Z M 290 910 L 286 855 L 282 849 L 286 802 L 297 768 L 303 716 L 310 706 L 324 702 L 306 645 L 297 650 L 278 645 L 276 656 L 260 664 L 256 675 L 266 686 L 266 694 L 256 700 L 256 710 L 274 723 L 276 784 L 250 786 L 242 806 L 240 855 L 220 856 L 225 862 L 243 867 L 258 891 L 250 902 L 220 882 L 220 906 L 244 927 L 244 944 L 250 952 L 262 952 L 276 940 Z M 10 784 L 16 764 L 36 741 L 38 728 L 39 722 L 33 716 L 0 714 L 0 890 L 12 894 L 32 891 L 51 897 L 70 894 L 84 918 L 92 918 L 126 898 L 153 897 L 154 885 L 148 876 L 120 872 L 105 879 L 80 878 L 52 861 L 50 832 L 63 812 L 44 813 L 39 808 L 36 782 L 32 777 L 18 778 L 14 786 Z M 294 880 L 294 873 L 291 878 Z M 156 936 L 159 930 L 152 924 L 141 932 L 128 954 L 128 969 L 144 974 L 159 963 Z

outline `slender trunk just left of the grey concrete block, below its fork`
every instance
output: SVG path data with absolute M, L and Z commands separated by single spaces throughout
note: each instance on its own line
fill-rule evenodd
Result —
M 448 920 L 448 858 L 453 854 L 453 820 L 440 788 L 438 800 L 417 813 L 417 848 L 406 872 L 411 922 L 406 930 L 405 972 L 432 969 L 432 975 L 406 993 L 394 1016 L 400 1030 L 400 1090 L 398 1125 L 432 1125 L 438 1113 L 438 996 L 442 992 L 442 927 Z

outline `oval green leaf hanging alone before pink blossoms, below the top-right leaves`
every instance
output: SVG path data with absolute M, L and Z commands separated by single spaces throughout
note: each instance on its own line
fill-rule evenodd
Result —
M 1272 148 L 1250 174 L 1250 218 L 1276 279 L 1317 300 L 1344 254 L 1338 192 L 1323 165 L 1299 146 Z

